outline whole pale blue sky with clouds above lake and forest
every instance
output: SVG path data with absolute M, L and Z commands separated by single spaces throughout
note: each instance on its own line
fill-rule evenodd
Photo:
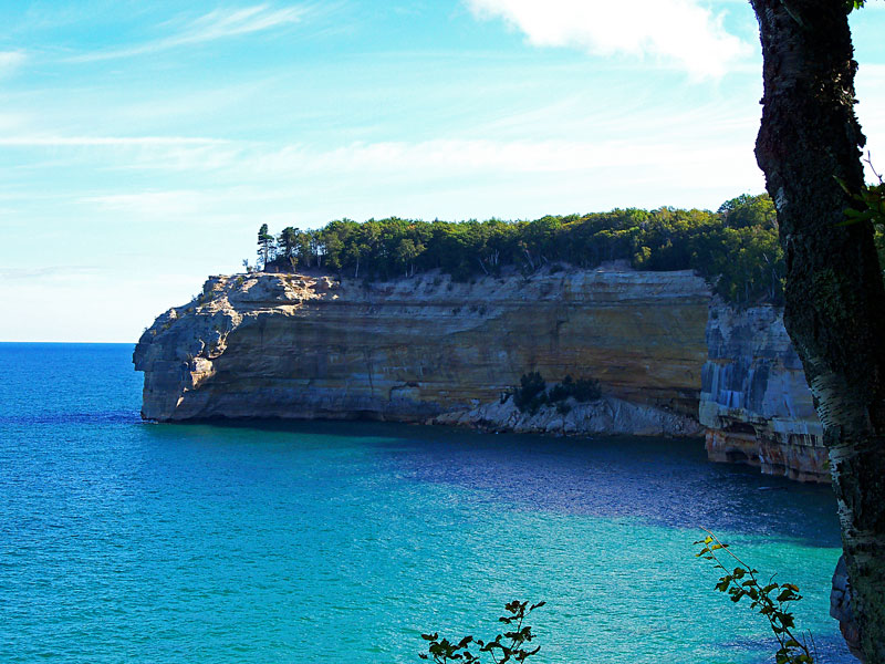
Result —
M 885 1 L 852 14 L 885 169 Z M 0 0 L 0 341 L 134 342 L 261 224 L 763 190 L 746 0 Z

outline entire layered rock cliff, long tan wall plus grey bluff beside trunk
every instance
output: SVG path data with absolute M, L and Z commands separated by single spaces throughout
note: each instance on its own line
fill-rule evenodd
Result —
M 469 283 L 214 277 L 145 331 L 134 362 L 149 419 L 364 417 L 566 435 L 706 427 L 716 460 L 825 478 L 779 314 L 711 304 L 690 271 L 610 263 Z M 603 397 L 520 413 L 507 391 L 532 371 L 549 384 L 596 378 Z

